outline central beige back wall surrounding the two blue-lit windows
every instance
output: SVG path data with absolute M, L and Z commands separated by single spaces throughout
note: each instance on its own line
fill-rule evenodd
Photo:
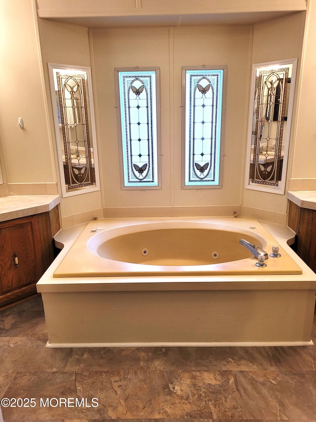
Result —
M 92 30 L 106 207 L 240 204 L 251 27 Z M 181 189 L 182 66 L 227 65 L 222 189 Z M 161 190 L 121 190 L 114 68 L 160 68 Z

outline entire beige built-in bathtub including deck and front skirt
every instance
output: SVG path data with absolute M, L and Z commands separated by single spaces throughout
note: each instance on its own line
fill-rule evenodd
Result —
M 269 227 L 122 218 L 91 221 L 76 239 L 62 231 L 37 285 L 46 347 L 312 345 L 316 275 L 287 245 L 293 232 Z M 268 253 L 265 267 L 240 239 Z

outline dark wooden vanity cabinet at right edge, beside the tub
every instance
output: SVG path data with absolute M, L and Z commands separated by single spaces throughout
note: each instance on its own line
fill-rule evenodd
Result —
M 296 233 L 295 252 L 316 272 L 316 210 L 289 202 L 288 226 Z

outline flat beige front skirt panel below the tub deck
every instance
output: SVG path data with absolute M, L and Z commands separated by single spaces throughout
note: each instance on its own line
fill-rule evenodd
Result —
M 42 294 L 47 347 L 311 345 L 309 290 Z

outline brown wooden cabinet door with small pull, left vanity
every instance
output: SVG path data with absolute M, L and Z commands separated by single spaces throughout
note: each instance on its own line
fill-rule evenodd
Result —
M 36 215 L 0 223 L 0 294 L 39 280 L 39 245 Z

